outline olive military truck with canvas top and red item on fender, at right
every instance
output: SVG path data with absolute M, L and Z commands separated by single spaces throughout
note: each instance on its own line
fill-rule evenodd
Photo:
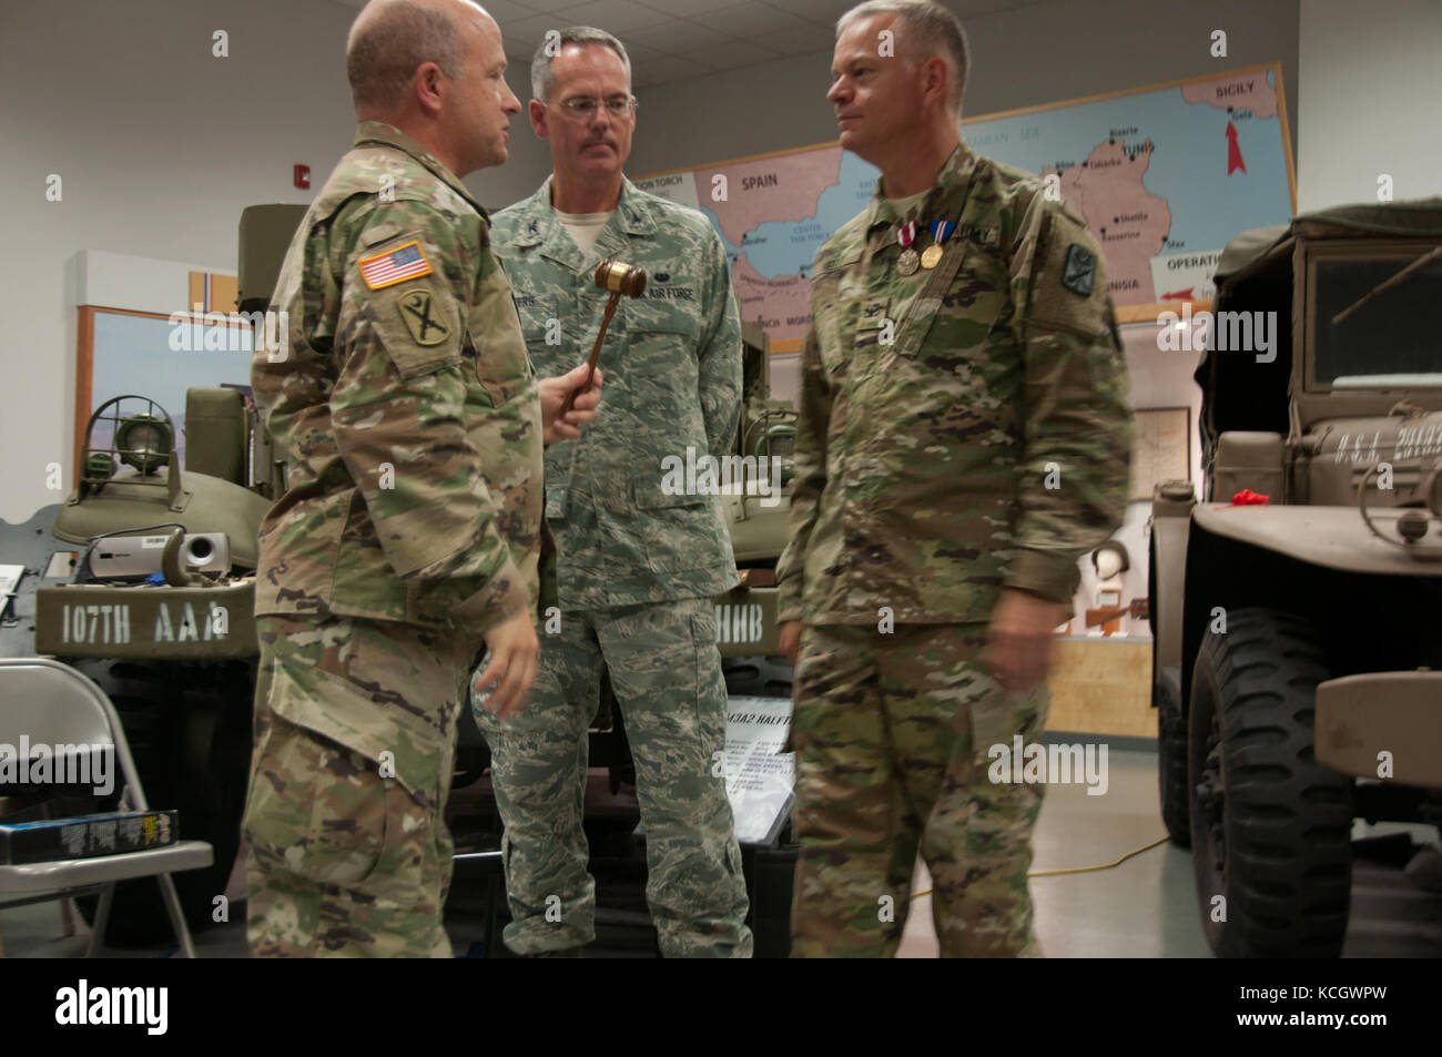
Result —
M 1442 199 L 1221 255 L 1204 493 L 1156 489 L 1149 590 L 1162 818 L 1218 956 L 1338 955 L 1354 821 L 1442 823 L 1438 304 Z

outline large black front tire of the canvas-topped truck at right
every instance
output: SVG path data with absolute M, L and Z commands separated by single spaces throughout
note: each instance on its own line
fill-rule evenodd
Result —
M 1351 900 L 1353 783 L 1312 751 L 1322 649 L 1291 613 L 1226 619 L 1226 632 L 1203 642 L 1191 682 L 1203 930 L 1218 958 L 1335 958 Z

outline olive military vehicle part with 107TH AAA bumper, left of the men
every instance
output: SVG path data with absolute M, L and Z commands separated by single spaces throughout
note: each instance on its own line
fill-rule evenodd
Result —
M 235 864 L 249 769 L 251 574 L 271 489 L 267 448 L 236 389 L 189 391 L 183 447 L 185 467 L 176 425 L 151 399 L 117 397 L 95 411 L 69 497 L 0 525 L 0 561 L 26 570 L 0 652 L 55 656 L 110 695 L 149 802 L 179 809 L 183 836 L 215 849 L 211 867 L 174 877 L 200 930 L 228 920 L 216 897 Z M 110 806 L 61 790 L 49 810 Z M 118 885 L 110 943 L 170 934 L 154 883 Z

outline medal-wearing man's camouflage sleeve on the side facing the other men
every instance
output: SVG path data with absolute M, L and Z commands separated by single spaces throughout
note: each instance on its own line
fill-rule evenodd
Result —
M 816 324 L 802 346 L 800 414 L 796 417 L 790 539 L 776 562 L 776 620 L 800 620 L 806 585 L 806 547 L 826 490 L 826 433 L 831 428 L 831 385 L 820 362 Z

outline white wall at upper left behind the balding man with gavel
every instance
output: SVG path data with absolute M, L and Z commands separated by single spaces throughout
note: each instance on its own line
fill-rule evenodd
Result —
M 0 3 L 0 518 L 25 521 L 74 483 L 81 252 L 234 273 L 241 209 L 309 202 L 291 166 L 309 164 L 319 187 L 350 144 L 353 17 L 324 0 Z M 218 29 L 229 33 L 225 59 L 212 56 Z M 535 189 L 547 162 L 521 130 L 512 163 L 467 186 L 506 205 Z M 59 202 L 45 196 L 50 173 Z M 107 297 L 128 301 L 110 307 L 189 307 L 182 277 L 173 303 L 154 309 L 147 271 L 107 271 Z M 45 487 L 52 461 L 65 467 L 59 492 Z

